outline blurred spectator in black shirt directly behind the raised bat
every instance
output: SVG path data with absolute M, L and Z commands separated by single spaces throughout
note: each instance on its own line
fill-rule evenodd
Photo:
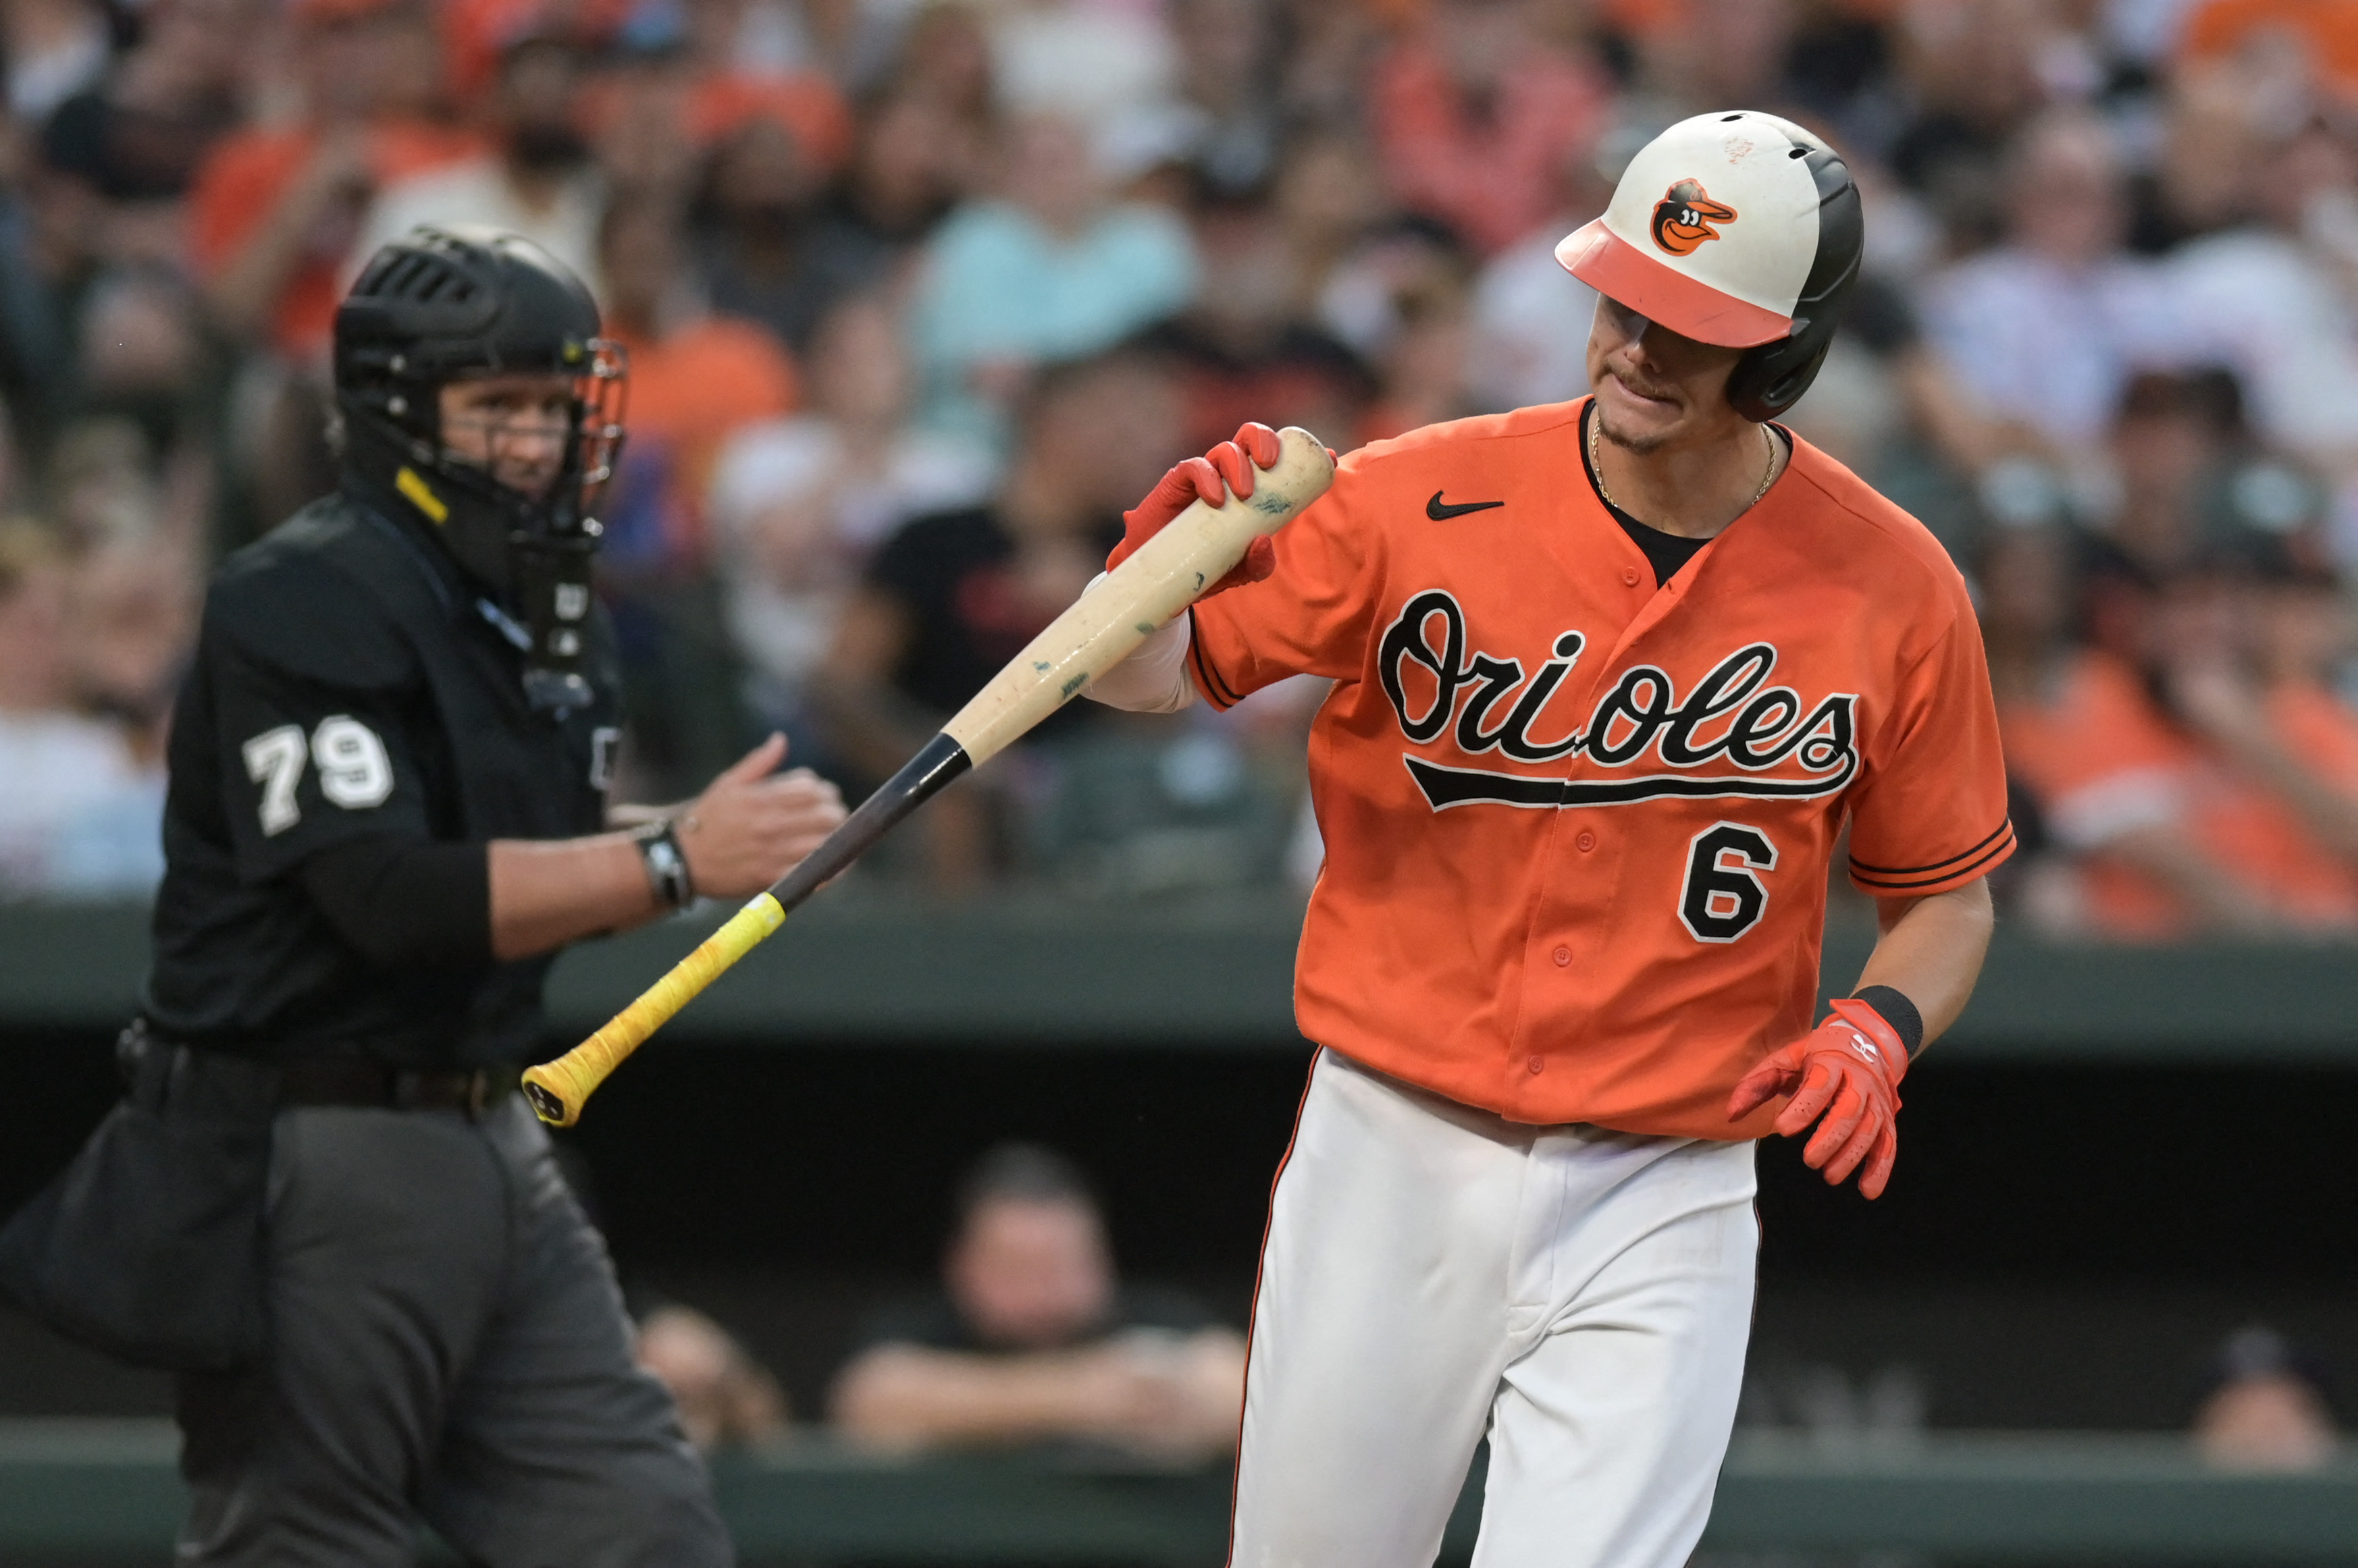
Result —
M 1115 351 L 1042 370 L 1016 417 L 1000 493 L 901 528 L 844 604 L 811 691 L 830 757 L 875 783 L 915 755 L 1080 597 L 1120 538 L 1122 509 L 1184 450 L 1179 387 L 1162 361 Z M 1071 703 L 1033 736 L 1052 740 L 1106 719 L 1108 710 Z M 1007 861 L 1007 835 L 981 788 L 960 785 L 929 809 L 941 884 L 967 884 Z

